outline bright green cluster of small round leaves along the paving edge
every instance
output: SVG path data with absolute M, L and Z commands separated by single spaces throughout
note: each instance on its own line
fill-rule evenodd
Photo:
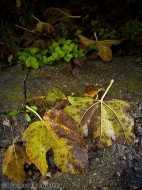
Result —
M 18 63 L 33 69 L 51 65 L 61 60 L 69 62 L 72 58 L 81 56 L 84 56 L 83 49 L 79 49 L 72 40 L 65 38 L 60 38 L 57 42 L 53 42 L 48 49 L 40 50 L 30 47 L 16 52 Z

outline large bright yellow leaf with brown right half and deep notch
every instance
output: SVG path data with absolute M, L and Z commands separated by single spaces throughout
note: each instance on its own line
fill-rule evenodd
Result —
M 53 150 L 55 164 L 62 172 L 80 174 L 88 167 L 85 141 L 76 122 L 66 113 L 49 110 L 43 121 L 32 123 L 24 132 L 26 152 L 44 176 L 48 170 L 46 153 Z

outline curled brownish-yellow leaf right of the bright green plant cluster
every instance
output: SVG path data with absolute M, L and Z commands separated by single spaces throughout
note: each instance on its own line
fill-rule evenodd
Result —
M 95 34 L 95 37 L 96 37 L 96 34 Z M 123 41 L 123 40 L 98 41 L 97 37 L 96 37 L 96 41 L 95 41 L 95 40 L 86 38 L 85 36 L 82 36 L 82 35 L 79 35 L 79 39 L 80 39 L 81 43 L 86 47 L 95 45 L 95 49 L 98 51 L 98 55 L 105 62 L 111 61 L 111 59 L 112 59 L 111 46 L 119 45 Z

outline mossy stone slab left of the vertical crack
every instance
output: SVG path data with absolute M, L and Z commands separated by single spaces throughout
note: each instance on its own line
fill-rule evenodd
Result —
M 27 71 L 23 71 L 20 66 L 0 71 L 0 113 L 22 108 L 26 77 Z

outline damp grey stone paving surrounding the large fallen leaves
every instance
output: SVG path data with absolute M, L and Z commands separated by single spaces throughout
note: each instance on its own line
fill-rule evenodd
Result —
M 62 190 L 131 190 L 142 187 L 142 63 L 135 57 L 115 58 L 110 63 L 94 60 L 84 63 L 82 68 L 70 72 L 67 64 L 58 64 L 39 70 L 22 70 L 15 66 L 0 71 L 0 158 L 2 164 L 3 152 L 12 144 L 13 139 L 23 133 L 27 127 L 23 114 L 8 116 L 12 109 L 23 110 L 25 98 L 46 96 L 51 87 L 60 88 L 65 94 L 77 93 L 83 95 L 87 85 L 107 87 L 114 79 L 107 97 L 130 101 L 138 106 L 133 117 L 140 118 L 136 123 L 136 140 L 132 146 L 114 144 L 111 148 L 96 151 L 89 150 L 90 166 L 83 175 L 69 175 L 49 172 L 41 177 L 35 170 L 29 171 L 29 177 L 23 189 L 62 189 Z M 9 188 L 9 180 L 0 173 L 1 189 Z M 29 185 L 29 187 L 27 187 Z M 22 189 L 22 188 L 21 188 Z

